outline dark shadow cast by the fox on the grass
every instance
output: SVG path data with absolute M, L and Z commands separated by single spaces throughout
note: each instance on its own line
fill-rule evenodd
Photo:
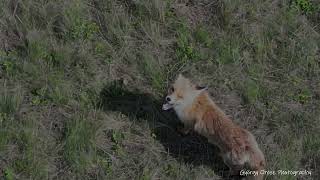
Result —
M 193 166 L 208 166 L 217 175 L 228 178 L 228 168 L 218 156 L 219 150 L 194 133 L 181 136 L 176 131 L 180 122 L 174 112 L 162 111 L 161 100 L 150 94 L 129 91 L 121 82 L 114 81 L 101 91 L 100 105 L 105 111 L 119 111 L 131 120 L 147 120 L 157 140 L 172 157 Z

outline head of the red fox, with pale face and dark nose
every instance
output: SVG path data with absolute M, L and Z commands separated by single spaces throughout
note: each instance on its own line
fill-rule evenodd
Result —
M 195 85 L 179 74 L 173 85 L 168 89 L 166 103 L 163 104 L 162 109 L 169 110 L 171 108 L 176 109 L 179 106 L 191 105 L 197 95 L 205 90 L 207 90 L 207 87 Z

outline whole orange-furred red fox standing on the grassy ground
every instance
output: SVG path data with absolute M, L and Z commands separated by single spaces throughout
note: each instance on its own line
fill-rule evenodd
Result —
M 206 87 L 199 87 L 179 74 L 168 90 L 163 110 L 173 108 L 186 129 L 193 129 L 219 147 L 224 163 L 233 175 L 243 169 L 255 171 L 255 180 L 262 180 L 260 173 L 265 158 L 255 137 L 231 121 L 211 100 Z

